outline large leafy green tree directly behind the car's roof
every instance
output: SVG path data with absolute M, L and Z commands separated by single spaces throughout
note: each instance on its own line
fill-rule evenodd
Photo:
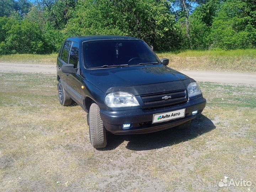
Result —
M 175 33 L 175 18 L 169 10 L 166 0 L 80 0 L 64 32 L 66 36 L 134 36 L 162 50 L 160 39 Z

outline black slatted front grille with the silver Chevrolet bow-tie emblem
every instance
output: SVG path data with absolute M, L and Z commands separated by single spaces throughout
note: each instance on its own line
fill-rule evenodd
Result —
M 150 95 L 142 95 L 140 97 L 145 105 L 145 108 L 171 106 L 187 102 L 186 90 L 161 92 Z

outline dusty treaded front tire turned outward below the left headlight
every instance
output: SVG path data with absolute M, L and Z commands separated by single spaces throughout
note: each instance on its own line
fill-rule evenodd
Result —
M 96 103 L 92 103 L 89 111 L 89 133 L 94 148 L 107 146 L 106 129 L 100 117 L 100 108 Z

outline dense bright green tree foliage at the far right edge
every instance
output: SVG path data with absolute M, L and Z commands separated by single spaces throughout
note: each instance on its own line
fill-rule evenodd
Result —
M 210 48 L 242 49 L 256 46 L 256 28 L 245 15 L 246 2 L 229 0 L 222 4 L 213 19 Z

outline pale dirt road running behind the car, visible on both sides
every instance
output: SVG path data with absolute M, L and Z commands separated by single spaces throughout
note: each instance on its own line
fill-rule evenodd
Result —
M 1 72 L 56 74 L 55 65 L 0 63 Z M 256 87 L 256 74 L 221 71 L 180 71 L 196 81 Z

